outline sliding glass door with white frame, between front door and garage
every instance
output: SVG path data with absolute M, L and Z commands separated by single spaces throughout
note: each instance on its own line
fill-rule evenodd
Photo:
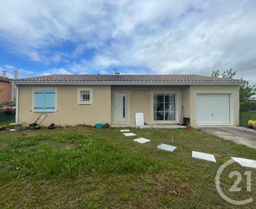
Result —
M 175 94 L 154 94 L 154 120 L 176 120 Z

